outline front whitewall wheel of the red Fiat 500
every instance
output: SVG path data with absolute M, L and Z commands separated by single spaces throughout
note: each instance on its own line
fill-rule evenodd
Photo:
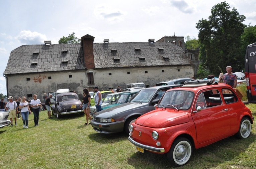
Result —
M 191 154 L 191 142 L 185 137 L 180 137 L 172 143 L 171 149 L 167 153 L 167 159 L 169 163 L 178 167 L 186 164 Z

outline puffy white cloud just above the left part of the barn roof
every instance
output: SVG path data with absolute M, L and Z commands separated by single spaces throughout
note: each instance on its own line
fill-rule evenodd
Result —
M 15 39 L 26 45 L 42 44 L 47 41 L 46 35 L 31 31 L 20 31 Z

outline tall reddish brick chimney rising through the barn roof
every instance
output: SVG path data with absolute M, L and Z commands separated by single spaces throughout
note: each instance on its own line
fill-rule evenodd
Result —
M 86 69 L 94 69 L 94 56 L 93 56 L 93 41 L 94 37 L 85 35 L 81 37 L 81 46 L 84 53 L 84 66 Z

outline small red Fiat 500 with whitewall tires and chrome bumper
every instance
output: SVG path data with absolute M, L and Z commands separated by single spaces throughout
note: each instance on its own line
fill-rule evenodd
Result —
M 156 109 L 129 126 L 129 140 L 140 152 L 167 153 L 175 166 L 188 162 L 198 149 L 236 134 L 247 138 L 252 113 L 226 84 L 186 82 L 165 92 Z

